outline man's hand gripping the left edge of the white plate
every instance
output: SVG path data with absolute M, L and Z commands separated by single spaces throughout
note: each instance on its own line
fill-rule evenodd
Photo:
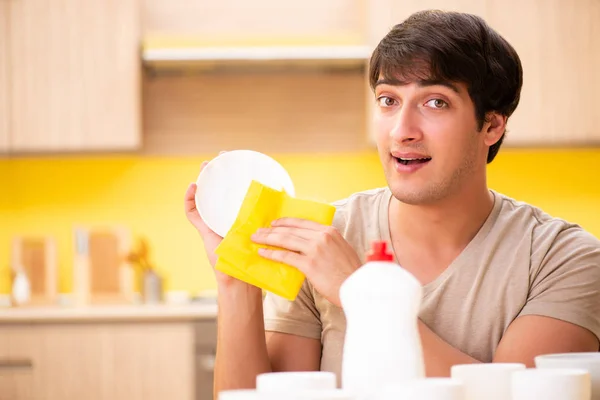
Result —
M 200 171 L 202 171 L 206 164 L 208 164 L 208 161 L 204 161 L 202 163 Z M 217 263 L 217 255 L 215 254 L 215 249 L 217 248 L 219 243 L 221 243 L 221 240 L 223 240 L 223 238 L 217 235 L 215 232 L 213 232 L 202 220 L 200 213 L 196 209 L 196 189 L 196 184 L 191 183 L 188 186 L 187 191 L 185 192 L 185 215 L 188 221 L 190 221 L 200 233 L 202 241 L 204 242 L 204 249 L 206 250 L 206 255 L 208 256 L 210 265 L 214 267 Z M 237 279 L 232 278 L 231 276 L 217 270 L 215 270 L 215 277 L 217 279 L 217 284 L 219 285 L 228 285 L 234 281 L 238 281 Z

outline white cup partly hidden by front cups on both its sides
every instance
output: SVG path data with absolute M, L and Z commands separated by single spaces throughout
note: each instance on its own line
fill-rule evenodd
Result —
M 459 364 L 451 376 L 465 386 L 465 400 L 506 400 L 512 390 L 512 373 L 525 369 L 521 363 Z

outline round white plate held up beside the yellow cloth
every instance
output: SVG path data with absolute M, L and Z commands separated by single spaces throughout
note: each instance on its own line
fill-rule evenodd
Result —
M 256 151 L 228 151 L 202 169 L 196 181 L 196 209 L 213 232 L 219 236 L 229 232 L 253 180 L 295 196 L 292 179 L 281 164 Z

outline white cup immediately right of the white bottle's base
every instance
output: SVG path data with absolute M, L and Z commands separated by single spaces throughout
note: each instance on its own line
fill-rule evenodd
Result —
M 454 378 L 424 378 L 386 386 L 377 400 L 465 400 L 465 387 Z

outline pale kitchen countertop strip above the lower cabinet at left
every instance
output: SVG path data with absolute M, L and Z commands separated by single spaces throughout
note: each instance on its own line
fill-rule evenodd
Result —
M 99 321 L 194 321 L 214 319 L 215 301 L 186 305 L 45 306 L 0 309 L 0 324 Z

